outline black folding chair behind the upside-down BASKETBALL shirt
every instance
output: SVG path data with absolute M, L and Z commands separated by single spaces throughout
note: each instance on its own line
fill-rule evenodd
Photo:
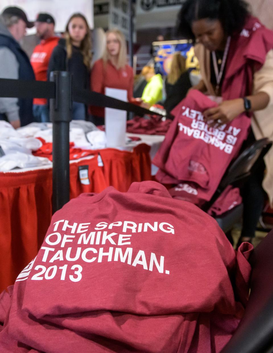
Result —
M 231 163 L 220 181 L 216 192 L 211 200 L 201 207 L 202 210 L 207 212 L 228 185 L 240 187 L 251 173 L 259 167 L 260 161 L 271 146 L 272 141 L 268 138 L 262 138 L 246 148 L 237 159 Z M 233 225 L 241 219 L 242 213 L 243 205 L 241 204 L 215 219 L 224 233 L 227 234 L 232 229 Z

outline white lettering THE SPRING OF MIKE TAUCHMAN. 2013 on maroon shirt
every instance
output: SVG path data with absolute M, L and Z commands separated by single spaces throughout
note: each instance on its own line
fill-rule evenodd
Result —
M 148 236 L 147 232 L 175 234 L 174 227 L 170 223 L 164 221 L 153 223 L 135 223 L 133 221 L 108 223 L 102 221 L 97 223 L 95 227 L 90 225 L 91 222 L 70 223 L 68 220 L 55 222 L 53 232 L 46 236 L 38 254 L 42 264 L 34 268 L 34 271 L 37 272 L 33 273 L 32 271 L 31 280 L 57 278 L 79 282 L 85 269 L 84 263 L 112 261 L 126 263 L 160 274 L 170 274 L 170 271 L 165 268 L 164 256 L 134 249 L 131 244 L 134 236 L 138 236 L 133 233 L 144 233 L 145 236 L 146 234 Z M 116 232 L 112 231 L 114 229 Z M 75 261 L 79 261 L 81 264 L 70 265 Z M 48 266 L 49 264 L 50 266 Z M 24 274 L 21 276 L 27 279 L 30 268 L 23 271 Z

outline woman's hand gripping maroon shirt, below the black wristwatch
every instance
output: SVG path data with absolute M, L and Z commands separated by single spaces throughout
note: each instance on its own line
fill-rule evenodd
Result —
M 218 107 L 205 110 L 204 119 L 209 126 L 227 124 L 244 112 L 242 98 L 224 101 Z

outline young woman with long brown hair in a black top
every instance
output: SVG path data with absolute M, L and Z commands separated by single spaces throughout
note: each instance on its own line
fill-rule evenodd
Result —
M 48 65 L 48 78 L 51 71 L 69 71 L 72 73 L 74 87 L 89 89 L 90 62 L 89 25 L 81 13 L 74 13 L 67 22 L 65 38 L 61 38 L 53 50 Z M 85 120 L 84 103 L 73 102 L 72 110 L 74 120 Z

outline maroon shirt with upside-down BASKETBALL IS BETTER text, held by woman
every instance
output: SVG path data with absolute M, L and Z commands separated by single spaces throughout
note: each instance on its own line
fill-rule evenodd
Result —
M 197 90 L 189 92 L 173 110 L 175 116 L 152 163 L 163 184 L 195 183 L 198 198 L 209 201 L 227 167 L 248 135 L 250 119 L 241 114 L 229 124 L 212 128 L 204 112 L 217 106 Z

